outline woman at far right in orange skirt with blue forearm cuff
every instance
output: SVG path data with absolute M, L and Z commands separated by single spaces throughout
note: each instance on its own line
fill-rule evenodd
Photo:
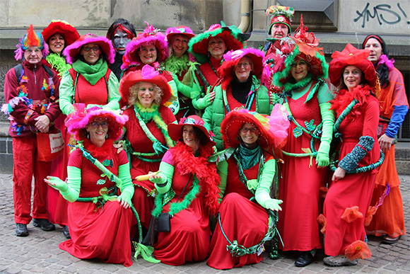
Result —
M 397 174 L 395 161 L 396 135 L 404 117 L 409 110 L 409 101 L 404 88 L 403 75 L 393 65 L 394 59 L 389 59 L 389 50 L 385 40 L 379 35 L 368 35 L 363 42 L 363 48 L 370 50 L 368 59 L 375 66 L 380 75 L 380 119 L 377 137 L 380 148 L 385 153 L 385 161 L 377 173 L 375 190 L 371 205 L 375 205 L 377 211 L 366 226 L 366 232 L 370 235 L 382 236 L 385 244 L 394 244 L 399 241 L 401 235 L 406 234 L 404 228 L 403 200 L 400 193 L 400 179 Z M 387 184 L 389 192 L 387 196 Z M 384 197 L 380 205 L 380 198 Z M 377 205 L 380 205 L 377 207 Z M 366 225 L 366 224 L 365 224 Z

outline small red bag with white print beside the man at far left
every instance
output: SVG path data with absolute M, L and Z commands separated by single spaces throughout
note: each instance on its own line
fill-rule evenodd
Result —
M 64 138 L 61 130 L 42 133 L 37 132 L 37 160 L 52 161 L 57 158 L 64 149 Z

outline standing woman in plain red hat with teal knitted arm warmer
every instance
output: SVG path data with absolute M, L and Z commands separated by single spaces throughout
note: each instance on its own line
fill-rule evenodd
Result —
M 327 266 L 355 266 L 358 258 L 371 256 L 363 224 L 375 186 L 375 163 L 380 159 L 379 103 L 375 97 L 380 86 L 367 59 L 369 53 L 348 44 L 342 52 L 334 52 L 329 64 L 329 79 L 338 88 L 331 103 L 341 142 L 339 166 L 333 169 L 324 200 L 324 253 L 329 257 L 323 262 Z

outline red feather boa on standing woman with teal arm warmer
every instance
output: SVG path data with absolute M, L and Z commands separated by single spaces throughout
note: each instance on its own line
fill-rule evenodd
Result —
M 353 107 L 350 113 L 346 116 L 348 120 L 356 120 L 356 117 L 362 114 L 362 105 L 367 101 L 367 96 L 370 96 L 370 86 L 365 85 L 361 86 L 358 85 L 353 91 L 347 91 L 346 89 L 341 89 L 336 98 L 334 98 L 330 103 L 332 103 L 331 110 L 336 111 L 337 117 L 346 109 L 349 103 L 353 101 L 353 99 L 357 99 L 358 103 Z

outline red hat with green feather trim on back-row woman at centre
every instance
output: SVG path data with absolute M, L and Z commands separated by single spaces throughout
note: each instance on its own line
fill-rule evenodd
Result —
M 221 21 L 221 25 L 211 25 L 209 30 L 189 40 L 189 53 L 201 64 L 208 62 L 208 43 L 211 38 L 215 37 L 223 39 L 227 50 L 242 49 L 245 40 L 250 38 L 249 35 L 242 33 L 236 25 L 226 26 L 225 23 Z

